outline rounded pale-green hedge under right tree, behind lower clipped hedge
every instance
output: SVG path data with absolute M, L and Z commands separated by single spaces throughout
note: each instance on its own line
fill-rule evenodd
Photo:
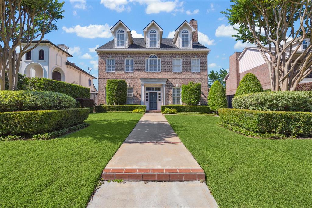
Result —
M 234 97 L 233 108 L 312 112 L 312 91 L 259 92 Z

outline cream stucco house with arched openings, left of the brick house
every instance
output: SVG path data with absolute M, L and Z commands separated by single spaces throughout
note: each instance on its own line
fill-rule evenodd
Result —
M 36 44 L 37 41 L 32 41 Z M 22 43 L 22 46 L 26 43 Z M 19 73 L 27 77 L 48 78 L 89 87 L 91 93 L 97 93 L 93 84 L 94 76 L 67 60 L 73 57 L 65 44 L 55 45 L 49 40 L 41 40 L 32 51 L 27 52 L 21 61 Z

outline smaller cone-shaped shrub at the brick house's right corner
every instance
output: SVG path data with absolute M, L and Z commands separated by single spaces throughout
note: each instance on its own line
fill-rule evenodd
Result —
M 213 82 L 208 94 L 208 105 L 210 110 L 218 112 L 219 108 L 227 108 L 227 97 L 224 87 L 219 81 Z

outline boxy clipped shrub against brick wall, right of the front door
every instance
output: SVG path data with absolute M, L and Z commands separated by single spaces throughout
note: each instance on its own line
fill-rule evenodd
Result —
M 188 82 L 182 85 L 182 102 L 189 106 L 196 106 L 199 103 L 202 87 L 200 83 Z

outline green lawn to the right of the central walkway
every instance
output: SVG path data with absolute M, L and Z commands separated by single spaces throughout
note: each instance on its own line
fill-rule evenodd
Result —
M 220 207 L 312 206 L 312 140 L 243 136 L 218 126 L 217 116 L 165 117 Z

